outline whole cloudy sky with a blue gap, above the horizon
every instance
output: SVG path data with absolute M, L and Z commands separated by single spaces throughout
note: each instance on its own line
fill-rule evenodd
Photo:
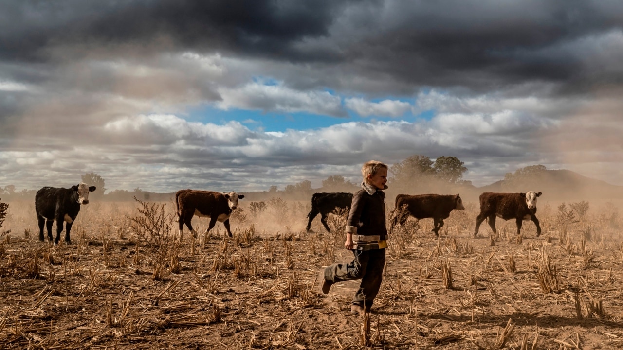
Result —
M 622 87 L 621 1 L 2 1 L 0 187 L 317 188 L 414 154 L 623 185 Z

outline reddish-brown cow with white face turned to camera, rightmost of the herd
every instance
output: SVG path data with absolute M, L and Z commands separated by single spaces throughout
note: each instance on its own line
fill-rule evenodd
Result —
M 517 234 L 521 233 L 521 222 L 532 220 L 536 225 L 536 237 L 541 235 L 541 226 L 536 219 L 536 197 L 541 192 L 529 191 L 526 193 L 495 193 L 484 192 L 480 195 L 480 214 L 476 218 L 476 228 L 473 236 L 478 235 L 478 228 L 485 219 L 495 234 L 495 217 L 504 220 L 515 219 L 517 222 Z

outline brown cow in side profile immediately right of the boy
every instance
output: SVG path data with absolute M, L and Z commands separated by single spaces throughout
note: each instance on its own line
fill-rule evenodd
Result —
M 403 206 L 406 211 L 401 213 L 399 210 Z M 454 209 L 465 209 L 463 200 L 458 194 L 417 194 L 416 196 L 399 194 L 396 196 L 392 223 L 402 225 L 409 219 L 409 216 L 417 220 L 432 218 L 433 228 L 430 232 L 435 232 L 435 236 L 439 237 L 439 229 L 444 225 L 444 219 L 447 219 Z

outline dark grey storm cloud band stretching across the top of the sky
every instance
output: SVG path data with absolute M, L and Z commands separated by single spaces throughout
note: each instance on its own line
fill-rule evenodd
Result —
M 536 80 L 573 92 L 621 77 L 606 67 L 595 82 L 604 67 L 583 59 L 592 48 L 582 42 L 621 31 L 618 1 L 21 1 L 2 9 L 4 60 L 52 59 L 58 48 L 224 52 L 331 62 L 343 73 L 395 80 L 396 90 Z

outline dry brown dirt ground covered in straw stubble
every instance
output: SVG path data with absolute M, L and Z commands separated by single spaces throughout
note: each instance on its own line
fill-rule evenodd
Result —
M 179 243 L 176 222 L 165 218 L 151 233 L 135 225 L 145 219 L 141 208 L 158 225 L 158 210 L 173 213 L 170 202 L 92 201 L 73 244 L 54 247 L 38 241 L 34 205 L 9 202 L 0 229 L 11 230 L 0 245 L 0 348 L 623 347 L 623 245 L 612 204 L 591 204 L 583 217 L 541 204 L 538 238 L 531 222 L 516 237 L 513 220 L 498 220 L 497 237 L 485 223 L 473 238 L 473 203 L 452 213 L 440 239 L 429 232 L 432 220 L 410 220 L 392 230 L 381 292 L 366 316 L 350 314 L 356 281 L 318 290 L 321 267 L 350 261 L 343 235 L 318 219 L 317 233 L 302 232 L 305 205 L 272 204 L 257 219 L 245 204 L 232 238 L 220 223 L 204 234 L 207 220 L 195 217 L 201 234 L 193 240 L 185 230 Z M 343 217 L 331 225 L 341 229 Z

